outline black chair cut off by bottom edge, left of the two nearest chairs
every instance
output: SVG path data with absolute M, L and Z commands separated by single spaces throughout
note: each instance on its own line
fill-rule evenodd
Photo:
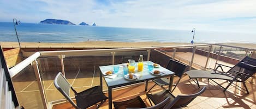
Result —
M 166 97 L 163 101 L 160 101 L 159 104 L 147 107 L 144 101 L 138 96 L 134 99 L 120 101 L 120 102 L 113 102 L 115 109 L 159 109 L 163 108 L 167 102 L 169 102 L 170 97 Z M 164 108 L 169 109 L 169 108 Z

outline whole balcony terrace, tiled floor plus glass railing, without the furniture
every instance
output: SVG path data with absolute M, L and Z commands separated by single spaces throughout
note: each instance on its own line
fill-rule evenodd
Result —
M 27 58 L 11 68 L 10 75 L 19 103 L 25 108 L 72 108 L 72 105 L 66 102 L 63 95 L 53 85 L 53 79 L 58 72 L 64 73 L 70 84 L 76 91 L 80 92 L 99 85 L 99 66 L 126 63 L 128 59 L 138 60 L 139 55 L 144 55 L 144 60 L 159 63 L 163 67 L 167 65 L 169 59 L 175 59 L 187 64 L 190 69 L 214 69 L 216 62 L 234 66 L 246 55 L 253 56 L 255 50 L 255 48 L 222 44 L 198 44 L 192 46 L 63 50 L 36 52 L 33 55 L 29 52 L 23 52 L 23 56 Z M 175 77 L 174 81 L 176 80 Z M 222 80 L 218 80 L 218 82 L 227 84 Z M 149 83 L 148 88 L 153 85 L 153 82 Z M 246 94 L 235 87 L 230 87 L 228 91 L 223 92 L 221 87 L 214 82 L 203 79 L 200 81 L 200 85 L 207 86 L 206 91 L 186 108 L 256 108 L 255 83 L 254 78 L 246 83 L 249 88 L 249 94 Z M 237 84 L 240 83 L 237 82 Z M 150 106 L 145 96 L 144 87 L 145 84 L 142 83 L 114 89 L 112 92 L 113 101 L 122 101 L 140 95 Z M 103 91 L 107 92 L 107 90 L 108 88 L 103 82 Z M 152 92 L 160 90 L 160 87 L 154 87 Z M 174 95 L 191 94 L 198 90 L 197 85 L 189 80 L 185 74 L 175 89 Z M 100 108 L 108 108 L 108 100 Z

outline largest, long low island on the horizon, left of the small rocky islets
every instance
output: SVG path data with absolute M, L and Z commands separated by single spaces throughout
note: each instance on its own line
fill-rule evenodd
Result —
M 65 20 L 55 20 L 55 19 L 46 19 L 44 21 L 40 21 L 39 23 L 44 23 L 44 24 L 68 24 L 68 25 L 75 25 L 74 23 L 70 21 L 65 21 Z

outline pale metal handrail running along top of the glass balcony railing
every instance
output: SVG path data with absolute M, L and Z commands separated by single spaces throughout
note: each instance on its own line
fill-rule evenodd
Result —
M 222 46 L 222 47 L 233 47 L 247 50 L 256 50 L 256 48 L 245 48 L 245 47 L 235 47 L 228 46 L 224 44 L 194 44 L 194 45 L 181 45 L 181 46 L 160 46 L 160 47 L 140 47 L 140 48 L 115 48 L 115 49 L 89 49 L 89 50 L 56 50 L 56 51 L 47 51 L 47 52 L 36 52 L 33 55 L 29 56 L 27 59 L 23 60 L 13 68 L 9 70 L 11 78 L 19 73 L 22 69 L 26 68 L 29 64 L 31 64 L 34 60 L 36 60 L 40 56 L 58 56 L 58 55 L 66 55 L 66 56 L 82 56 L 86 53 L 110 53 L 110 52 L 126 52 L 126 51 L 134 51 L 134 50 L 147 50 L 147 49 L 164 49 L 164 48 L 182 48 L 182 47 L 200 47 L 200 46 Z

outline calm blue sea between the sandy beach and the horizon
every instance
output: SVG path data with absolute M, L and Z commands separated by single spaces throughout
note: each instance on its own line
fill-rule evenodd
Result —
M 82 41 L 182 42 L 190 43 L 191 30 L 118 28 L 85 25 L 20 23 L 16 25 L 20 42 L 69 43 Z M 13 22 L 0 22 L 0 42 L 16 42 Z M 197 30 L 194 43 L 256 43 L 256 34 Z

